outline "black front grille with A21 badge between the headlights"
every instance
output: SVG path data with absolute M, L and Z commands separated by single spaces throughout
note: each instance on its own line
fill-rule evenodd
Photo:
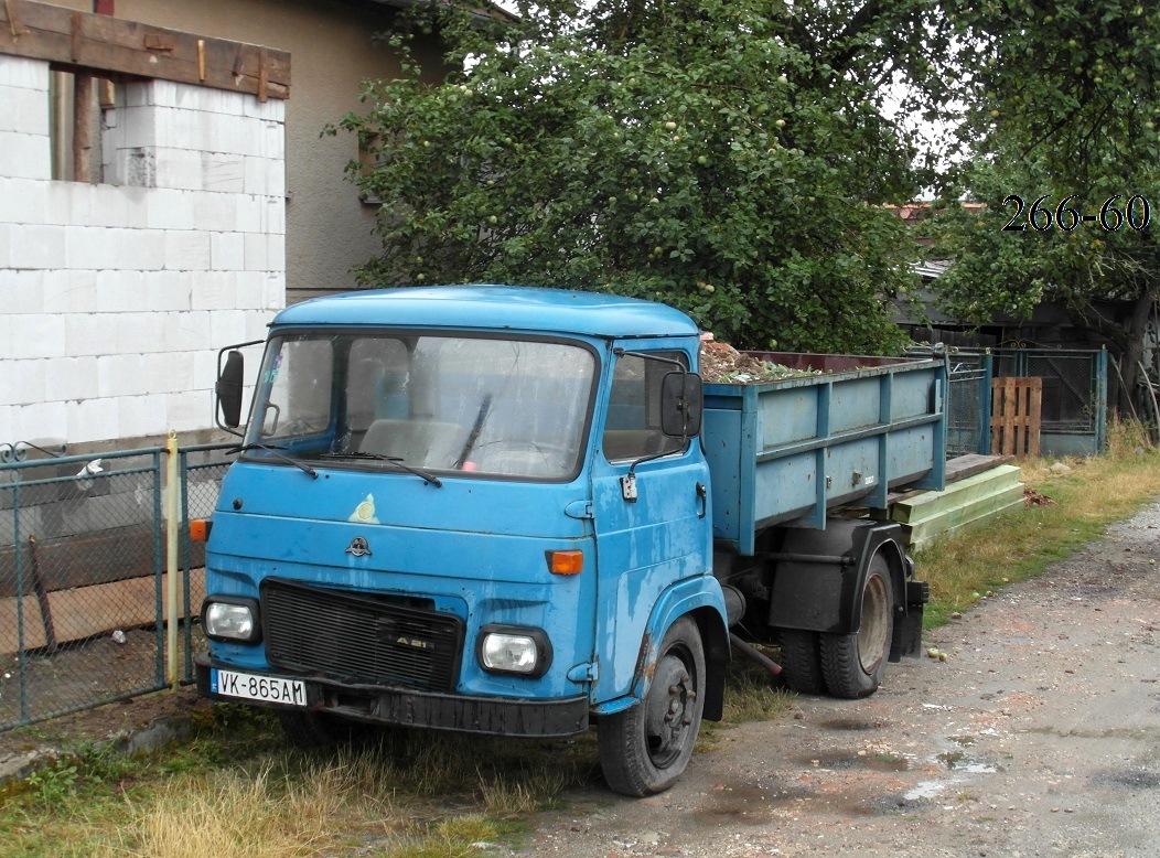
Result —
M 280 579 L 262 583 L 270 664 L 347 682 L 451 691 L 463 620 Z

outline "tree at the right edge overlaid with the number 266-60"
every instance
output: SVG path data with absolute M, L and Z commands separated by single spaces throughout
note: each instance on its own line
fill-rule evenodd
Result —
M 955 262 L 940 283 L 944 303 L 981 322 L 1060 301 L 1110 341 L 1126 394 L 1160 291 L 1157 226 L 1134 228 L 1145 206 L 1160 205 L 1160 8 L 956 0 L 948 15 L 973 61 L 959 95 L 972 106 L 960 133 L 970 158 L 949 196 L 965 190 L 989 208 L 947 218 L 943 249 Z M 1009 195 L 1024 209 L 1005 231 L 1017 208 L 1005 205 Z M 1099 312 L 1108 300 L 1131 306 L 1125 320 Z

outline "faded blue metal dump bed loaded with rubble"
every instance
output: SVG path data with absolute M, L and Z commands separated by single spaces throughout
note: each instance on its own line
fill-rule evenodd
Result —
M 771 524 L 821 529 L 834 507 L 943 488 L 945 361 L 748 354 L 822 375 L 705 384 L 716 539 L 752 554 Z

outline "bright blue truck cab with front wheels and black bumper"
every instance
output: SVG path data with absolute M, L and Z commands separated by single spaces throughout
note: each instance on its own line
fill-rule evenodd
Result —
M 667 788 L 728 659 L 697 349 L 682 313 L 586 292 L 282 311 L 209 530 L 201 692 L 300 744 L 595 721 L 615 790 Z M 227 427 L 240 379 L 234 351 Z

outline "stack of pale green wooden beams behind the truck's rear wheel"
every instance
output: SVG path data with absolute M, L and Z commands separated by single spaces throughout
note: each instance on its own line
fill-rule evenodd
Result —
M 922 548 L 967 524 L 1022 507 L 1023 483 L 1018 478 L 1016 465 L 999 465 L 952 482 L 942 492 L 900 499 L 891 507 L 890 518 L 902 525 L 912 550 Z

